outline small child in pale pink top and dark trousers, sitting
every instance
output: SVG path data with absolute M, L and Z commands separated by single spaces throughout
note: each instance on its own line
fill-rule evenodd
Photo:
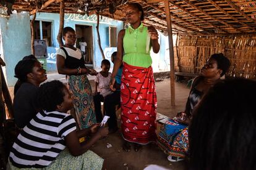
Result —
M 101 61 L 101 71 L 96 75 L 95 78 L 95 95 L 93 96 L 94 105 L 95 105 L 95 115 L 97 123 L 100 123 L 103 119 L 101 113 L 101 103 L 104 102 L 104 98 L 106 95 L 111 94 L 111 90 L 109 88 L 111 73 L 109 73 L 110 62 L 109 60 Z

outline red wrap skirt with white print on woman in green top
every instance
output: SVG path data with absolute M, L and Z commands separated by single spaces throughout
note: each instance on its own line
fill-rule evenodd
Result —
M 155 141 L 156 92 L 151 67 L 124 63 L 121 79 L 122 136 L 129 142 Z

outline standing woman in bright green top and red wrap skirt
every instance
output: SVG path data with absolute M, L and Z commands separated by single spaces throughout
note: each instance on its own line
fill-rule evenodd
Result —
M 158 53 L 158 33 L 153 26 L 142 24 L 144 18 L 140 4 L 129 4 L 124 10 L 130 24 L 118 34 L 117 59 L 114 62 L 110 87 L 114 91 L 114 77 L 123 63 L 121 79 L 121 127 L 123 149 L 139 151 L 142 145 L 155 140 L 156 92 L 151 68 L 150 50 Z

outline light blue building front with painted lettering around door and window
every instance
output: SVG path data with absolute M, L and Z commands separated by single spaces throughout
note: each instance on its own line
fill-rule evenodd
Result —
M 93 30 L 93 67 L 100 68 L 101 65 L 101 52 L 98 47 L 98 36 L 96 33 L 96 15 L 79 15 L 79 14 L 65 14 L 64 16 L 65 26 L 70 26 L 74 28 L 75 25 L 88 25 L 92 26 Z M 59 44 L 57 41 L 57 36 L 59 32 L 59 14 L 48 14 L 48 13 L 37 13 L 36 20 L 52 22 L 53 23 L 53 47 L 48 47 L 48 59 L 47 68 L 48 71 L 56 71 L 56 49 L 58 49 Z M 105 53 L 105 58 L 110 60 L 112 52 L 116 51 L 116 47 L 109 47 L 109 26 L 116 26 L 117 33 L 122 30 L 123 23 L 111 18 L 100 17 L 100 39 L 101 47 Z

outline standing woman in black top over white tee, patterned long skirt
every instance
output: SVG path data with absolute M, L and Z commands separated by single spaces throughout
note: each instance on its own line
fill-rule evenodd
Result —
M 57 51 L 58 72 L 67 75 L 67 85 L 74 97 L 75 115 L 80 129 L 88 128 L 96 123 L 96 118 L 92 87 L 87 74 L 96 75 L 97 73 L 85 67 L 82 53 L 74 47 L 77 39 L 75 30 L 65 27 L 62 36 L 65 44 Z

